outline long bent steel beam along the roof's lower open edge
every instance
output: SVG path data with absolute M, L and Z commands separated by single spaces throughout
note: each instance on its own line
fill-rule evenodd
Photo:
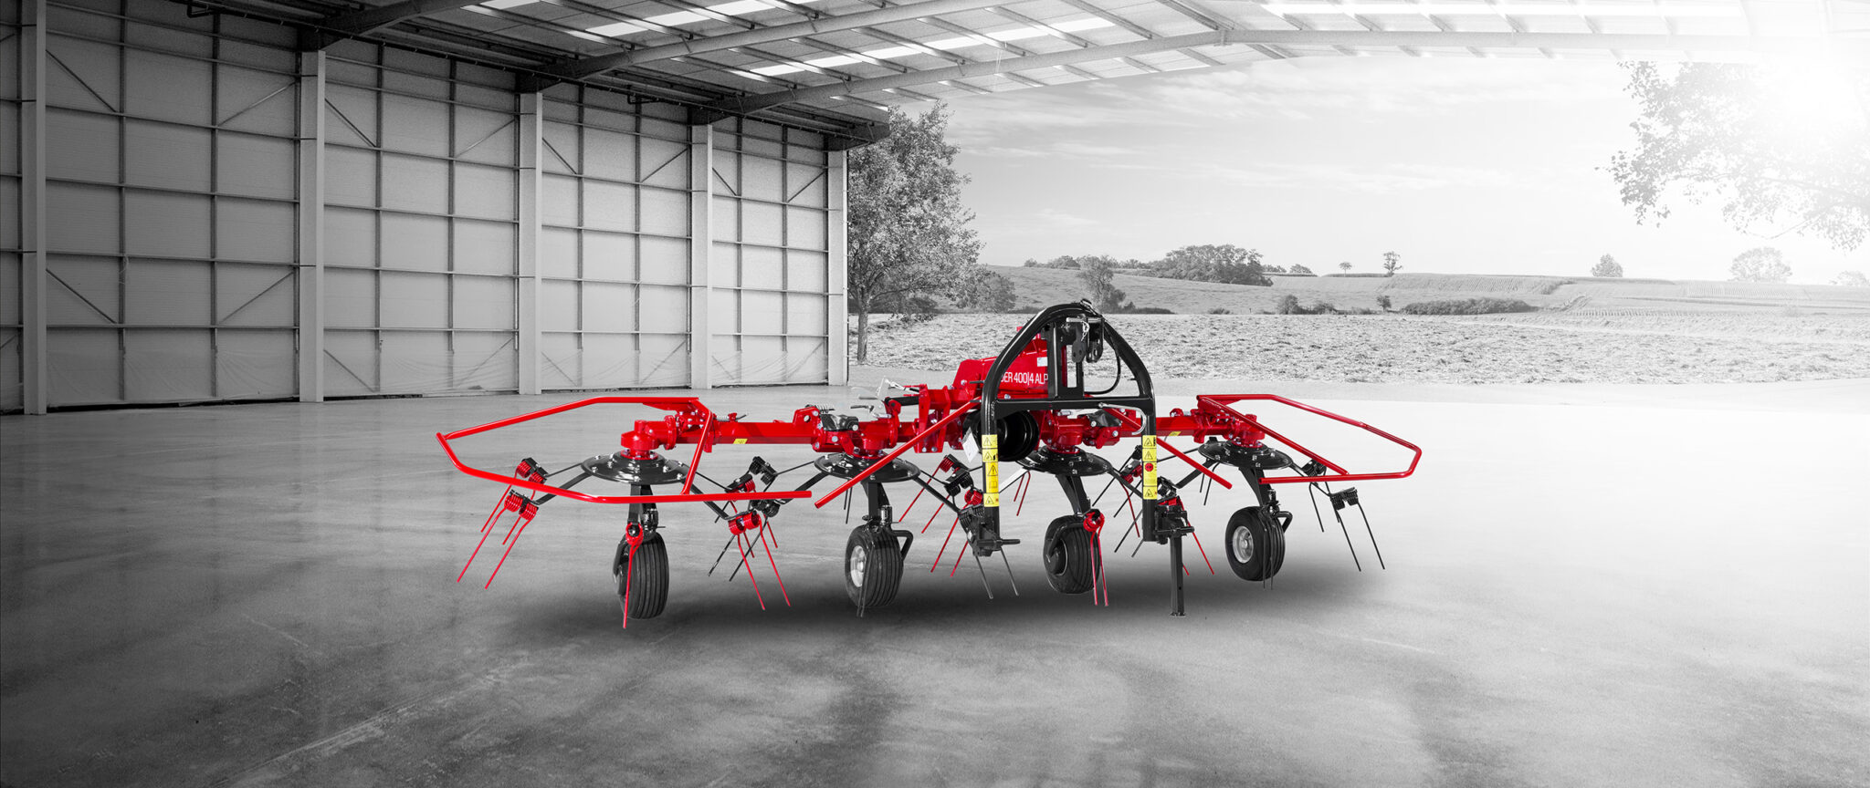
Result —
M 1666 34 L 1520 34 L 1520 32 L 1440 32 L 1440 30 L 1212 30 L 1128 41 L 1107 47 L 1072 49 L 1025 58 L 985 60 L 939 69 L 860 78 L 797 88 L 776 93 L 742 95 L 716 101 L 705 110 L 726 114 L 759 112 L 778 105 L 819 101 L 836 95 L 909 88 L 954 78 L 980 78 L 1010 71 L 1064 67 L 1098 60 L 1133 58 L 1184 47 L 1272 45 L 1272 47 L 1485 47 L 1485 49 L 1638 49 L 1638 50 L 1801 50 L 1821 43 L 1821 35 L 1666 35 Z M 1840 43 L 1840 41 L 1833 41 Z M 1870 49 L 1870 47 L 1866 47 Z

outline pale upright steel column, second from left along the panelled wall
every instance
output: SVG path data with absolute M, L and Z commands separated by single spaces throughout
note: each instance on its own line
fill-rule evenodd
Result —
M 299 52 L 299 401 L 325 401 L 325 52 Z

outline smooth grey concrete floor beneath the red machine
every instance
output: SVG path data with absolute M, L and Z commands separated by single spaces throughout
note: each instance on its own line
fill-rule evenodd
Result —
M 1045 586 L 1036 538 L 1012 553 L 1023 596 L 1004 568 L 991 601 L 969 566 L 929 573 L 918 542 L 898 601 L 856 618 L 842 514 L 791 504 L 793 605 L 761 612 L 705 577 L 726 528 L 686 506 L 664 512 L 669 609 L 628 631 L 615 508 L 548 504 L 490 590 L 454 583 L 499 489 L 432 433 L 563 396 L 0 418 L 0 781 L 1870 784 L 1870 381 L 1823 407 L 1554 390 L 1320 398 L 1427 450 L 1359 485 L 1388 571 L 1288 497 L 1272 588 L 1191 553 L 1187 618 L 1159 547 L 1113 558 L 1101 609 Z M 767 418 L 842 398 L 707 394 Z M 567 465 L 625 418 L 469 459 Z M 1210 551 L 1242 495 L 1197 510 Z M 1064 508 L 1025 506 L 1012 536 Z

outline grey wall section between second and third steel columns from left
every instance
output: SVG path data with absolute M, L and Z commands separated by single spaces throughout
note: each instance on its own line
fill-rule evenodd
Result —
M 325 394 L 518 388 L 512 75 L 327 50 Z

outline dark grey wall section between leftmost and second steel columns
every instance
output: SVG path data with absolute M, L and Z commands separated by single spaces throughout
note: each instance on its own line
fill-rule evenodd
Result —
M 290 32 L 90 6 L 47 9 L 49 401 L 292 396 Z

